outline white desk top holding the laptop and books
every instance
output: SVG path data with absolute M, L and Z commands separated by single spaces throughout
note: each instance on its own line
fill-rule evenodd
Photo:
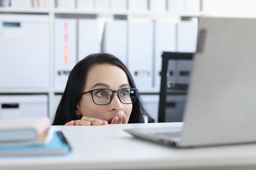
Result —
M 72 146 L 69 156 L 0 157 L 0 170 L 255 170 L 256 144 L 176 149 L 137 139 L 124 128 L 181 123 L 52 126 Z

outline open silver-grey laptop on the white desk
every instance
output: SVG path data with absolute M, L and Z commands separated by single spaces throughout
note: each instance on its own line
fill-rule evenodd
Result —
M 125 131 L 177 147 L 256 142 L 256 18 L 203 17 L 199 28 L 184 126 Z

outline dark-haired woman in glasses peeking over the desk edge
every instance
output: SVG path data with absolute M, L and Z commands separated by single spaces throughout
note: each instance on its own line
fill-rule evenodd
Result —
M 144 123 L 144 117 L 153 122 L 125 64 L 95 53 L 70 72 L 52 125 Z

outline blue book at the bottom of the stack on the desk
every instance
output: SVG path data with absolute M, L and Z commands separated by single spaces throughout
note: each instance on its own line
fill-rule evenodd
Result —
M 54 132 L 52 140 L 46 145 L 0 146 L 0 156 L 67 155 L 70 151 L 71 147 L 61 131 Z

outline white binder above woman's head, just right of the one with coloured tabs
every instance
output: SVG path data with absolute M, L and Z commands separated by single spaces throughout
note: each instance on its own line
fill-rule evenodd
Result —
M 89 54 L 101 52 L 99 34 L 99 20 L 78 20 L 78 60 Z

